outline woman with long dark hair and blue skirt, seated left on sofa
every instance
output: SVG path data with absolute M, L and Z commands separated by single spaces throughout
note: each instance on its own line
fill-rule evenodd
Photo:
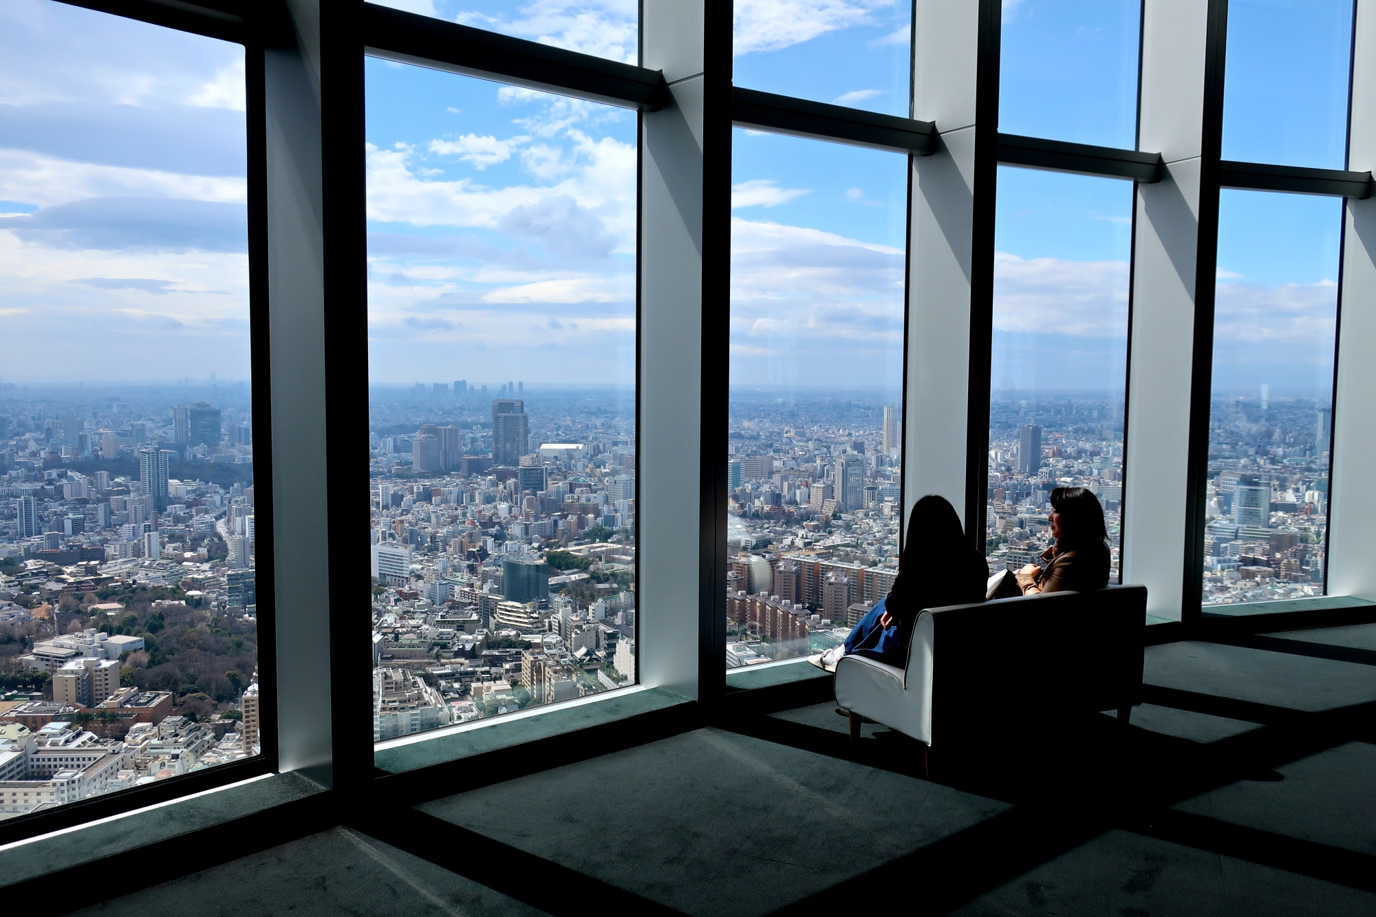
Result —
M 908 537 L 889 595 L 860 618 L 843 646 L 809 661 L 834 672 L 837 660 L 857 653 L 904 668 L 918 614 L 923 609 L 984 602 L 988 577 L 984 555 L 966 541 L 955 507 L 945 497 L 927 494 L 908 516 Z

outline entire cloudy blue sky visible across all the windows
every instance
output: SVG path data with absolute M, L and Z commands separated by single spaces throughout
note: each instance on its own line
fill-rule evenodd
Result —
M 387 3 L 637 59 L 636 0 Z M 905 114 L 908 15 L 738 0 L 735 80 Z M 1350 0 L 1229 15 L 1225 157 L 1342 167 Z M 1137 0 L 1006 0 L 1000 129 L 1134 146 L 1138 19 Z M 0 321 L 26 344 L 0 380 L 246 377 L 242 66 L 211 39 L 0 6 Z M 636 116 L 381 61 L 366 74 L 372 379 L 632 383 Z M 732 380 L 896 387 L 904 157 L 733 136 Z M 1120 376 L 1131 186 L 998 180 L 995 388 Z M 1218 383 L 1260 384 L 1266 362 L 1289 366 L 1273 388 L 1331 372 L 1339 205 L 1226 191 L 1223 209 Z

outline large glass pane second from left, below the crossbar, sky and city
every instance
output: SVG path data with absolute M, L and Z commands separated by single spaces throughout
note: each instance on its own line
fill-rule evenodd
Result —
M 385 741 L 636 680 L 636 113 L 366 78 Z

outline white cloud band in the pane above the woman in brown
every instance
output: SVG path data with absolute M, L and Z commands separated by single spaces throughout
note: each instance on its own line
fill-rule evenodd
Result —
M 993 256 L 996 330 L 1126 337 L 1127 299 L 1127 262 Z

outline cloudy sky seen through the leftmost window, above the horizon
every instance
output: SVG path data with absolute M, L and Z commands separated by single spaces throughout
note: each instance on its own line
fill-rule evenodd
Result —
M 249 377 L 244 50 L 0 4 L 0 381 Z

